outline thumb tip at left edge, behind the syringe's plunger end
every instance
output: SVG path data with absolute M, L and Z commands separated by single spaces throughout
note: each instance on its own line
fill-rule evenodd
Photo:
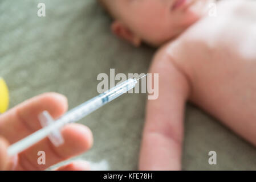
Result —
M 5 170 L 9 162 L 7 155 L 8 142 L 0 137 L 0 170 Z

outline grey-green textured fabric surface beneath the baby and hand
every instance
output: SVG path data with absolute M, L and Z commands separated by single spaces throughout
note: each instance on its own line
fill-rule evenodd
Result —
M 39 2 L 46 4 L 45 18 L 37 16 Z M 97 95 L 99 73 L 147 72 L 155 49 L 117 40 L 109 22 L 94 0 L 2 0 L 0 76 L 9 85 L 11 107 L 59 92 L 72 108 Z M 95 169 L 137 169 L 146 98 L 126 94 L 80 121 L 94 133 L 94 147 L 75 159 Z M 208 164 L 211 150 L 217 152 L 216 166 Z M 256 169 L 255 163 L 253 146 L 188 104 L 183 169 Z

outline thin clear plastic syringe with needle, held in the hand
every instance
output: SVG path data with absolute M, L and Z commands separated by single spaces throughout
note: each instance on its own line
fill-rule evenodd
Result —
M 147 75 L 144 75 L 143 77 L 145 76 Z M 51 115 L 47 111 L 43 111 L 43 113 L 39 115 L 39 121 L 43 126 L 43 129 L 40 129 L 28 137 L 19 140 L 17 143 L 12 144 L 7 151 L 9 156 L 13 156 L 26 150 L 47 136 L 55 146 L 63 144 L 64 140 L 59 130 L 64 125 L 79 121 L 80 119 L 86 117 L 86 115 L 99 109 L 101 106 L 107 104 L 122 94 L 127 93 L 129 90 L 135 88 L 138 80 L 135 78 L 129 78 L 128 80 L 121 82 L 121 84 L 116 85 L 99 96 L 96 96 L 91 100 L 84 102 L 84 104 L 68 111 L 65 115 L 63 115 L 63 117 L 57 119 L 56 121 L 51 118 Z

